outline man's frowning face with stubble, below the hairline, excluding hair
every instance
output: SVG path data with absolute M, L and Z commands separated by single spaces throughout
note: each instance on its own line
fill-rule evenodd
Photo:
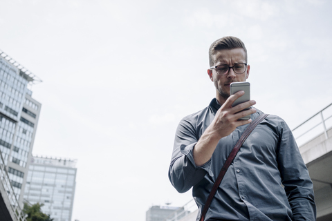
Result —
M 214 55 L 212 55 L 214 60 L 213 66 L 219 66 L 221 64 L 226 64 L 228 66 L 234 66 L 234 64 L 246 63 L 246 52 L 243 48 L 234 48 L 226 50 L 217 50 Z M 232 68 L 228 71 L 227 75 L 218 75 L 214 68 L 208 69 L 208 75 L 213 81 L 216 87 L 216 99 L 218 102 L 223 104 L 228 97 L 230 97 L 230 83 L 246 81 L 249 77 L 250 66 L 247 66 L 247 70 L 243 74 L 235 74 Z

